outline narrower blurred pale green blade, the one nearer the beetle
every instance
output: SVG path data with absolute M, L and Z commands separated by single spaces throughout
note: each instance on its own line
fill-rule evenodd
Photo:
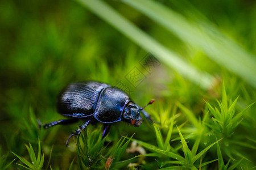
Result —
M 157 57 L 161 62 L 166 63 L 167 66 L 172 67 L 178 73 L 183 75 L 185 78 L 195 82 L 200 87 L 209 89 L 213 82 L 213 76 L 207 73 L 202 73 L 196 67 L 192 66 L 188 62 L 181 59 L 175 52 L 167 49 L 165 46 L 160 44 L 158 41 L 148 36 L 145 32 L 131 23 L 129 20 L 120 15 L 107 3 L 94 0 L 78 0 L 84 6 L 88 7 L 89 10 L 94 12 L 100 18 L 104 19 L 113 27 L 118 29 L 121 33 L 129 37 L 136 44 L 141 46 L 144 50 L 150 52 Z

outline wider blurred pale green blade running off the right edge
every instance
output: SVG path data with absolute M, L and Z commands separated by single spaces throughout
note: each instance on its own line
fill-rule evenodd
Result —
M 163 25 L 184 42 L 203 49 L 211 59 L 256 87 L 254 56 L 225 36 L 213 24 L 206 21 L 201 24 L 189 22 L 184 16 L 156 1 L 124 0 L 124 2 Z

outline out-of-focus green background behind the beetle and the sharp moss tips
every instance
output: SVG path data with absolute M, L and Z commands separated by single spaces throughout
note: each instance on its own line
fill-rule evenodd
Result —
M 203 120 L 208 111 L 205 101 L 216 107 L 216 100 L 224 103 L 223 80 L 228 101 L 240 96 L 236 114 L 255 101 L 255 18 L 256 2 L 251 0 L 0 1 L 0 169 L 16 158 L 9 151 L 29 160 L 24 145 L 31 143 L 37 148 L 38 137 L 45 156 L 43 169 L 52 145 L 49 164 L 53 169 L 68 169 L 74 158 L 72 169 L 79 169 L 75 143 L 71 142 L 71 148 L 64 145 L 78 124 L 39 130 L 36 118 L 44 123 L 63 118 L 56 112 L 56 96 L 68 83 L 85 80 L 113 86 L 122 81 L 141 106 L 156 99 L 146 110 L 160 122 L 155 126 L 163 138 L 167 138 L 175 112 L 179 115 L 175 124 L 182 125 L 179 129 L 192 148 L 197 133 L 185 109 L 198 121 Z M 140 65 L 148 52 L 160 65 L 151 67 L 150 72 Z M 136 88 L 126 79 L 135 66 L 146 76 Z M 214 132 L 210 126 L 213 113 L 209 112 L 199 151 L 216 138 L 224 138 L 220 147 L 225 164 L 230 160 L 231 166 L 242 159 L 237 169 L 255 168 L 255 111 L 254 105 L 248 109 L 230 136 Z M 116 142 L 121 135 L 131 137 L 135 133 L 134 139 L 158 145 L 153 126 L 144 122 L 140 128 L 119 122 L 106 140 Z M 176 126 L 172 133 L 171 146 L 183 155 Z M 206 135 L 210 133 L 213 137 Z M 203 159 L 220 159 L 216 150 L 209 150 Z M 121 160 L 135 155 L 139 154 L 125 152 Z M 172 165 L 166 163 L 170 158 L 156 157 L 144 158 L 139 168 Z M 102 154 L 97 168 L 103 169 L 106 159 Z M 8 168 L 23 168 L 16 163 L 22 164 L 16 159 Z M 127 164 L 118 168 L 137 167 Z M 220 164 L 216 161 L 204 168 L 218 169 Z

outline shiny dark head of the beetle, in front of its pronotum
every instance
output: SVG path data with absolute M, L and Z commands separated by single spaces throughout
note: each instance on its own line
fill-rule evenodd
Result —
M 130 102 L 123 111 L 122 120 L 139 127 L 142 123 L 141 108 L 137 104 Z

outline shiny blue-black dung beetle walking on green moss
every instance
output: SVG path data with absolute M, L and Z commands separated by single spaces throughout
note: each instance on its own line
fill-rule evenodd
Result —
M 152 99 L 148 104 L 154 101 Z M 57 97 L 57 112 L 70 119 L 44 124 L 43 128 L 83 120 L 85 123 L 69 135 L 66 142 L 68 146 L 68 141 L 72 136 L 79 135 L 89 124 L 101 122 L 104 124 L 103 139 L 114 122 L 125 121 L 139 127 L 142 123 L 141 112 L 147 120 L 152 121 L 150 115 L 143 111 L 147 105 L 143 108 L 139 107 L 125 92 L 109 84 L 93 81 L 71 83 Z

